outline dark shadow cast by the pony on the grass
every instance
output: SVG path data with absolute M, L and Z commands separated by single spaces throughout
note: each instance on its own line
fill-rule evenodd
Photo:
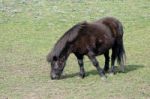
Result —
M 128 73 L 128 72 L 131 72 L 131 71 L 135 71 L 135 70 L 138 70 L 140 68 L 144 68 L 143 65 L 126 65 L 125 66 L 125 72 L 120 72 L 119 70 L 119 66 L 115 66 L 115 71 L 117 73 Z M 78 76 L 79 73 L 73 73 L 73 74 L 68 74 L 68 75 L 63 75 L 61 77 L 61 79 L 66 79 L 66 78 L 72 78 L 72 77 L 75 77 L 75 76 Z M 98 72 L 97 70 L 90 70 L 90 71 L 86 71 L 86 76 L 89 76 L 89 75 L 98 75 Z

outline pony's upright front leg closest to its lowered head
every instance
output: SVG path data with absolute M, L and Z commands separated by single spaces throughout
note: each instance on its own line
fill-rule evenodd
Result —
M 79 67 L 80 67 L 80 72 L 79 72 L 79 76 L 81 78 L 84 78 L 85 77 L 85 70 L 84 70 L 84 63 L 83 63 L 83 55 L 80 55 L 80 54 L 75 54 L 77 59 L 78 59 L 78 64 L 79 64 Z

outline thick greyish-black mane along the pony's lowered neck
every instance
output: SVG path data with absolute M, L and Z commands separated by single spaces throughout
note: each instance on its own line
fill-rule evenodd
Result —
M 48 54 L 47 61 L 50 62 L 54 56 L 59 57 L 67 43 L 70 43 L 77 38 L 80 30 L 85 26 L 86 23 L 87 22 L 85 21 L 78 23 L 65 32 L 64 35 L 57 41 L 51 53 Z

